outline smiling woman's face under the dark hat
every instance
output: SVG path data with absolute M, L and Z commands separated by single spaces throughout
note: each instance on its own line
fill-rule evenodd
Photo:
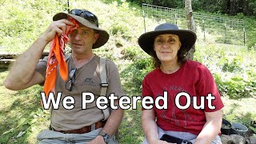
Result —
M 161 34 L 154 38 L 154 51 L 161 62 L 178 62 L 177 54 L 181 46 L 176 34 Z

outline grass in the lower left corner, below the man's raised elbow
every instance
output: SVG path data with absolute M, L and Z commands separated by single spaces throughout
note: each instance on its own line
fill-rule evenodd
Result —
M 36 143 L 38 132 L 49 125 L 49 114 L 39 104 L 40 86 L 12 91 L 2 86 L 7 71 L 0 77 L 0 143 Z

